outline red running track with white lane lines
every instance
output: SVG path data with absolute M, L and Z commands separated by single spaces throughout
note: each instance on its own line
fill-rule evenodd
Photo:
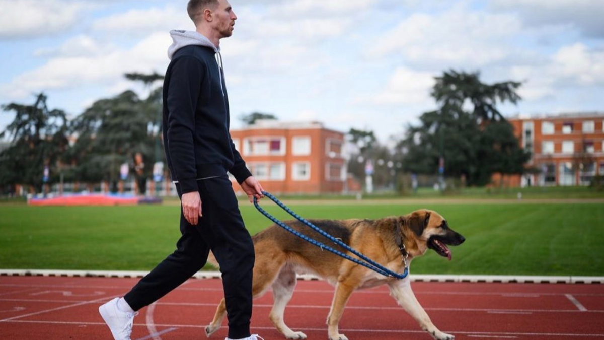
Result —
M 97 308 L 121 296 L 135 278 L 0 276 L 0 339 L 111 339 Z M 455 339 L 604 339 L 604 285 L 535 283 L 412 283 L 440 330 Z M 204 326 L 222 296 L 219 279 L 188 280 L 135 318 L 132 340 L 205 339 Z M 298 281 L 286 309 L 289 327 L 309 340 L 327 339 L 332 286 Z M 252 333 L 283 339 L 268 319 L 272 296 L 254 301 Z M 359 290 L 339 325 L 350 340 L 432 339 L 387 287 Z M 222 340 L 226 327 L 211 339 Z

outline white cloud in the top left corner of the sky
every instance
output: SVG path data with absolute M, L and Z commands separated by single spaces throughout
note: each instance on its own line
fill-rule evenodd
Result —
M 48 36 L 71 28 L 85 8 L 81 2 L 0 0 L 0 39 Z

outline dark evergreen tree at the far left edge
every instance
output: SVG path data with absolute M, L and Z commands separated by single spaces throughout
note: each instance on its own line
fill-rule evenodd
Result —
M 45 167 L 48 183 L 56 180 L 62 154 L 69 146 L 68 126 L 65 111 L 50 110 L 47 99 L 39 93 L 33 105 L 2 105 L 2 110 L 13 111 L 15 117 L 0 134 L 0 138 L 10 140 L 10 146 L 0 154 L 0 185 L 21 184 L 39 192 Z

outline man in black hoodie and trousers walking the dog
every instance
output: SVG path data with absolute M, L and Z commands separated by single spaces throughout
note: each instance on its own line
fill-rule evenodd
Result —
M 263 197 L 229 132 L 219 44 L 233 34 L 237 16 L 227 0 L 190 0 L 187 11 L 196 31 L 170 32 L 162 122 L 166 159 L 181 198 L 182 236 L 175 252 L 129 293 L 99 307 L 115 340 L 130 340 L 137 311 L 201 269 L 210 250 L 222 272 L 227 339 L 259 339 L 249 333 L 254 244 L 226 174 L 233 174 L 249 201 Z

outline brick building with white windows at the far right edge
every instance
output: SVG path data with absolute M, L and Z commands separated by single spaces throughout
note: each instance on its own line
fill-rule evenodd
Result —
M 511 186 L 589 185 L 604 175 L 604 113 L 561 114 L 509 119 L 521 146 L 539 170 L 512 178 Z

